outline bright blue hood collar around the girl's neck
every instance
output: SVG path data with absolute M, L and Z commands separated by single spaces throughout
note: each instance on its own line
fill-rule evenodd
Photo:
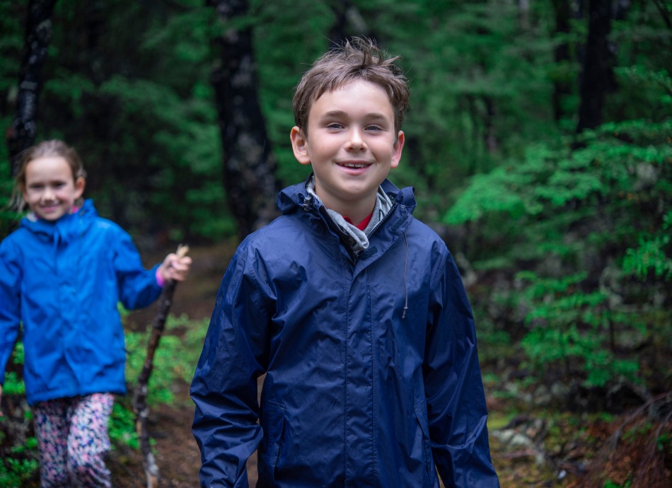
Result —
M 97 216 L 98 212 L 93 207 L 93 200 L 87 199 L 74 214 L 66 214 L 57 221 L 37 219 L 31 212 L 21 219 L 21 227 L 34 233 L 40 240 L 69 243 L 79 233 L 86 231 Z

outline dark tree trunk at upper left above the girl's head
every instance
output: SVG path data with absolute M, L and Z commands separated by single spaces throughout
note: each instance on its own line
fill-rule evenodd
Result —
M 30 0 L 25 20 L 25 47 L 19 71 L 14 118 L 6 139 L 11 175 L 18 172 L 18 156 L 35 143 L 37 100 L 42 90 L 42 67 L 52 37 L 52 13 L 56 0 Z

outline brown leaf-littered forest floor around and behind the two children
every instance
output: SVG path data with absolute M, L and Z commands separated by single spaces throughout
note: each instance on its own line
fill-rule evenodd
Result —
M 209 318 L 231 250 L 224 246 L 192 248 L 190 255 L 194 264 L 189 281 L 178 286 L 170 312 Z M 156 308 L 150 307 L 133 313 L 131 320 L 151 323 L 155 313 Z M 482 364 L 484 378 L 502 378 L 501 367 Z M 669 418 L 656 424 L 636 407 L 620 414 L 567 412 L 521 400 L 504 381 L 486 380 L 485 388 L 492 460 L 502 488 L 672 486 L 672 453 L 661 451 L 659 442 L 666 438 L 664 445 L 669 448 L 671 444 Z M 188 385 L 179 385 L 176 397 L 173 405 L 153 408 L 149 416 L 159 486 L 198 487 L 200 458 L 191 432 L 194 407 Z M 117 448 L 108 466 L 115 488 L 146 487 L 139 451 Z M 255 456 L 248 461 L 248 477 L 254 487 Z

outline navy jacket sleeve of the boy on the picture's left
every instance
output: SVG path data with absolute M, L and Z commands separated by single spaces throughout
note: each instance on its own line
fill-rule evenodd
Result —
M 236 253 L 224 274 L 191 385 L 201 487 L 248 487 L 245 462 L 257 448 L 257 378 L 265 371 L 267 300 Z M 264 303 L 266 302 L 266 303 Z

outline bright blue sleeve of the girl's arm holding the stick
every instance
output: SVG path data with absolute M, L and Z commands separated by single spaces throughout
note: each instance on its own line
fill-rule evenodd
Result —
M 131 236 L 122 228 L 117 228 L 114 243 L 114 266 L 120 301 L 127 310 L 151 305 L 161 295 L 162 287 L 156 282 L 159 265 L 145 269 Z

